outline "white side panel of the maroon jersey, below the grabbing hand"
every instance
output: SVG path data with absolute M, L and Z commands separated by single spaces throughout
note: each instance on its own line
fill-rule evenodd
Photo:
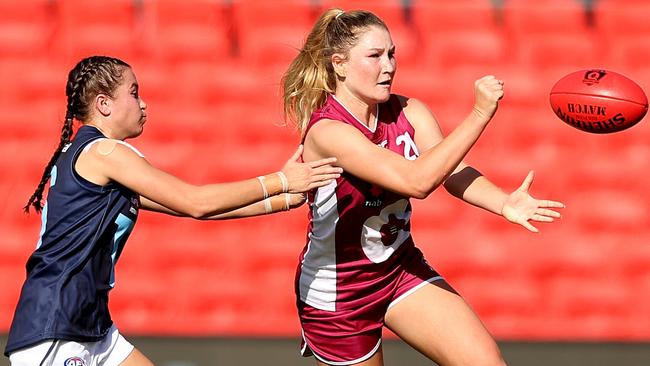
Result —
M 316 191 L 312 229 L 300 271 L 300 300 L 321 310 L 336 310 L 336 180 Z M 309 266 L 309 267 L 308 267 Z

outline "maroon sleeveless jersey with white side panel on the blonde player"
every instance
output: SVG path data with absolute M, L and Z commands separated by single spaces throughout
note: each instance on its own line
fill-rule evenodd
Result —
M 406 159 L 419 155 L 414 129 L 395 95 L 378 105 L 374 131 L 328 96 L 307 131 L 322 119 L 349 124 L 372 143 Z M 309 192 L 307 244 L 296 275 L 298 299 L 321 310 L 344 310 L 379 301 L 413 248 L 408 197 L 343 172 L 328 186 Z

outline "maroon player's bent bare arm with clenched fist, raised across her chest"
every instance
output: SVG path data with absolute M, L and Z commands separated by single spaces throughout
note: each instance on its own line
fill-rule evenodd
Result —
M 442 139 L 440 135 L 440 141 L 416 160 L 407 160 L 378 147 L 352 126 L 333 120 L 321 121 L 308 132 L 305 158 L 334 156 L 346 172 L 365 181 L 405 196 L 427 197 L 454 171 L 481 135 L 496 110 L 503 88 L 494 77 L 484 77 L 477 80 L 475 92 L 477 98 L 472 112 L 449 136 Z M 424 107 L 419 105 L 412 109 L 416 114 L 423 114 Z

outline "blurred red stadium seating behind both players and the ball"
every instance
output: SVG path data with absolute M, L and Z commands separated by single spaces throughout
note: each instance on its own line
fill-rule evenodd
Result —
M 22 207 L 59 141 L 74 64 L 105 54 L 133 66 L 148 122 L 130 142 L 154 165 L 195 184 L 249 178 L 299 142 L 280 80 L 330 7 L 384 19 L 393 92 L 426 102 L 447 133 L 475 79 L 503 79 L 466 161 L 508 191 L 535 170 L 532 194 L 567 205 L 532 234 L 442 189 L 413 201 L 417 245 L 506 360 L 650 365 L 650 126 L 588 134 L 548 102 L 559 78 L 587 68 L 650 91 L 647 0 L 0 0 L 2 348 L 40 228 Z M 304 206 L 230 222 L 142 212 L 117 266 L 114 321 L 158 365 L 315 364 L 298 356 L 293 294 L 306 227 Z M 428 364 L 386 339 L 387 365 Z

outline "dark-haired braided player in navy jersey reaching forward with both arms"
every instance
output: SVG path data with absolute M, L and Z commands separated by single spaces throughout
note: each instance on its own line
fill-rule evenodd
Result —
M 151 365 L 124 339 L 108 311 L 119 258 L 140 209 L 196 219 L 288 210 L 302 194 L 339 177 L 336 159 L 300 163 L 258 179 L 195 186 L 156 169 L 125 139 L 142 133 L 146 104 L 125 62 L 81 60 L 69 73 L 60 144 L 26 210 L 42 212 L 37 248 L 5 354 L 13 366 Z M 73 119 L 82 126 L 73 140 Z M 151 243 L 152 245 L 154 243 Z

